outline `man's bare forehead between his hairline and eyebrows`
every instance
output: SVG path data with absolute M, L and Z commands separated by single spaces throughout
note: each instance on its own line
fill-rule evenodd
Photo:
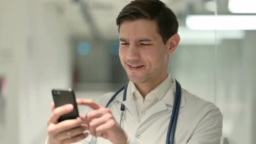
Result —
M 126 39 L 159 39 L 158 27 L 155 20 L 125 21 L 120 25 L 119 38 Z

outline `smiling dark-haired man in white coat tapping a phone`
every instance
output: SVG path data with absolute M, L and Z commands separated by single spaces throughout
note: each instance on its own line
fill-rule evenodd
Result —
M 119 13 L 119 57 L 128 78 L 127 98 L 121 91 L 95 101 L 77 99 L 92 108 L 77 119 L 58 123 L 72 105 L 54 108 L 48 118 L 48 144 L 165 144 L 174 106 L 175 79 L 168 73 L 180 36 L 174 13 L 159 0 L 135 0 Z M 182 84 L 181 84 L 182 85 Z M 120 106 L 125 105 L 121 119 Z M 213 103 L 181 88 L 175 144 L 220 144 L 223 116 Z M 88 132 L 83 133 L 85 130 Z

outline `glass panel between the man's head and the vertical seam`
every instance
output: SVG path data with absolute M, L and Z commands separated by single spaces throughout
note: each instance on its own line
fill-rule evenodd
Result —
M 214 102 L 215 1 L 187 1 L 177 11 L 181 43 L 171 55 L 170 72 L 183 88 L 200 98 Z M 170 6 L 172 6 L 170 2 Z M 204 16 L 210 16 L 211 29 L 205 29 Z M 195 19 L 195 20 L 194 20 Z

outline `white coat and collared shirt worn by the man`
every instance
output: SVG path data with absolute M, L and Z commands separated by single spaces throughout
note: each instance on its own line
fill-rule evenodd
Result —
M 170 86 L 169 82 L 171 82 Z M 121 127 L 129 134 L 128 144 L 166 143 L 175 91 L 175 79 L 168 76 L 146 96 L 143 102 L 137 95 L 138 93 L 136 94 L 134 84 L 129 82 L 127 99 L 123 101 L 125 111 L 121 124 Z M 96 102 L 105 106 L 113 95 L 113 92 L 102 95 L 96 99 Z M 123 91 L 108 107 L 118 123 L 122 98 Z M 181 105 L 174 138 L 175 144 L 220 144 L 222 122 L 223 116 L 213 103 L 181 88 Z M 90 139 L 91 135 L 76 144 L 89 144 Z M 94 138 L 91 144 L 111 144 L 111 142 L 98 137 Z

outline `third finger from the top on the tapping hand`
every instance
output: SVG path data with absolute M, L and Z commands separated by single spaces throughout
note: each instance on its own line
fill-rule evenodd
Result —
M 90 130 L 90 134 L 94 135 L 94 136 L 100 136 L 101 134 L 97 134 L 95 129 L 102 125 L 105 124 L 107 121 L 111 120 L 113 118 L 113 116 L 111 114 L 106 114 L 103 115 L 100 118 L 96 118 L 93 121 L 91 121 L 89 123 L 89 130 Z

